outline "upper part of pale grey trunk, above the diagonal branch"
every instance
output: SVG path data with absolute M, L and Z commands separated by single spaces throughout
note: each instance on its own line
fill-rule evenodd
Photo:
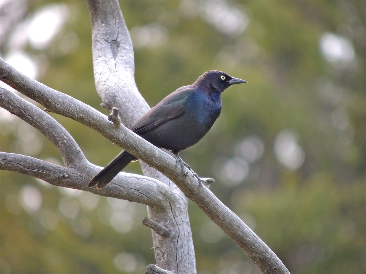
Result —
M 135 84 L 130 33 L 118 1 L 87 1 L 93 35 L 93 66 L 97 92 L 109 108 L 119 108 L 130 128 L 150 109 Z

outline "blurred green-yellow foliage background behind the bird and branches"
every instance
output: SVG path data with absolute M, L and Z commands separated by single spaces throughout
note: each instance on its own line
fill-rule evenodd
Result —
M 26 12 L 2 39 L 2 57 L 13 49 L 16 26 L 45 7 L 62 5 L 68 20 L 49 46 L 26 43 L 22 50 L 38 60 L 37 80 L 106 113 L 94 87 L 86 3 L 22 3 Z M 180 155 L 200 176 L 216 179 L 213 193 L 291 273 L 365 273 L 365 1 L 120 5 L 135 46 L 136 83 L 150 106 L 210 69 L 248 81 L 223 93 L 213 128 Z M 231 31 L 235 22 L 226 25 L 220 16 L 235 11 L 244 20 Z M 320 45 L 327 33 L 350 43 L 350 60 L 325 57 Z M 73 46 L 64 50 L 66 45 Z M 51 115 L 91 162 L 104 166 L 120 151 L 96 132 Z M 1 151 L 61 163 L 41 134 L 1 116 Z M 275 143 L 281 133 L 292 136 L 295 151 L 305 156 L 296 168 L 279 161 Z M 248 138 L 259 142 L 253 161 L 240 154 Z M 30 149 L 35 144 L 36 152 Z M 291 152 L 291 144 L 283 149 Z M 138 163 L 126 171 L 141 172 Z M 239 179 L 232 177 L 238 172 Z M 41 201 L 38 208 L 27 208 L 28 194 Z M 143 273 L 155 262 L 150 229 L 141 224 L 143 205 L 7 171 L 1 171 L 0 197 L 1 273 Z M 199 273 L 259 272 L 197 206 L 190 203 L 189 210 Z

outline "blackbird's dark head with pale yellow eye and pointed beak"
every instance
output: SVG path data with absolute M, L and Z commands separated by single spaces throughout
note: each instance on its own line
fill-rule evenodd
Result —
M 243 83 L 247 83 L 247 81 L 232 77 L 225 72 L 207 71 L 199 76 L 193 84 L 208 87 L 210 90 L 217 92 L 223 92 L 231 85 Z

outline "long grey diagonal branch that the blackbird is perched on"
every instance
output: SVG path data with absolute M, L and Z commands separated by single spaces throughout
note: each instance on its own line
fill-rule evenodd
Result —
M 4 63 L 3 60 L 1 60 Z M 9 71 L 4 71 L 5 66 L 1 66 L 0 77 L 3 79 L 4 73 L 7 74 L 8 79 L 11 78 L 10 83 L 16 82 L 20 83 L 16 75 L 9 73 Z M 11 68 L 11 71 L 14 69 Z M 16 72 L 19 74 L 19 72 Z M 25 76 L 22 76 L 23 79 Z M 41 97 L 39 90 L 35 89 L 31 91 L 31 87 L 27 86 L 26 83 L 38 83 L 35 80 L 26 79 L 23 81 L 23 85 L 17 84 L 19 91 L 27 91 L 26 93 L 31 95 L 33 98 L 38 99 Z M 41 85 L 38 83 L 38 85 Z M 45 91 L 45 86 L 42 85 L 43 91 Z M 49 88 L 48 88 L 49 89 Z M 55 93 L 56 91 L 49 89 L 50 92 Z M 58 92 L 60 94 L 60 92 Z M 46 97 L 51 96 L 50 94 L 44 94 Z M 60 97 L 67 96 L 62 95 Z M 68 96 L 70 97 L 70 96 Z M 71 98 L 71 97 L 70 97 Z M 56 100 L 56 102 L 55 102 Z M 69 113 L 73 104 L 75 104 L 74 98 L 69 100 L 57 101 L 57 98 L 53 102 L 46 102 L 42 100 L 42 103 L 49 110 L 57 110 L 60 114 L 64 114 L 67 117 L 74 117 L 77 121 L 80 120 L 78 115 Z M 60 104 L 59 107 L 55 108 L 54 104 Z M 83 103 L 82 103 L 83 104 Z M 85 105 L 85 104 L 84 104 Z M 98 113 L 98 111 L 87 106 L 83 108 L 83 114 L 89 115 L 89 122 L 97 122 L 99 120 L 99 131 L 108 137 L 109 140 L 113 140 L 120 145 L 122 148 L 126 149 L 128 152 L 132 153 L 139 159 L 145 161 L 147 164 L 156 168 L 158 171 L 162 172 L 165 176 L 170 178 L 182 191 L 183 193 L 195 202 L 203 212 L 214 221 L 232 240 L 234 240 L 246 254 L 258 265 L 264 273 L 289 273 L 280 259 L 273 253 L 272 250 L 249 228 L 246 224 L 234 212 L 227 208 L 210 190 L 206 187 L 199 187 L 197 180 L 192 176 L 188 170 L 189 174 L 187 178 L 184 178 L 180 166 L 176 165 L 176 159 L 164 152 L 163 150 L 157 148 L 156 146 L 150 144 L 143 138 L 139 137 L 137 134 L 128 130 L 125 126 L 121 125 L 119 129 L 113 130 L 111 123 L 108 121 L 105 115 Z M 85 117 L 84 117 L 85 118 Z M 88 122 L 88 123 L 89 123 Z M 97 126 L 93 126 L 95 128 Z

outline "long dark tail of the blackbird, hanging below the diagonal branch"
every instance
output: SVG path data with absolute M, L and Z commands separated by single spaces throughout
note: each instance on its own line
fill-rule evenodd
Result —
M 87 187 L 93 187 L 97 185 L 97 189 L 102 189 L 105 187 L 115 176 L 123 170 L 128 163 L 137 158 L 127 151 L 122 151 L 109 163 L 105 168 L 103 168 L 97 175 L 90 180 Z

